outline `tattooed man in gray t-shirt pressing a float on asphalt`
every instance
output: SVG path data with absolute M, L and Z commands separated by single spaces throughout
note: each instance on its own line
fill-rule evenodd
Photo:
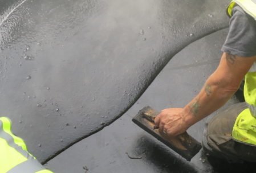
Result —
M 256 162 L 256 0 L 235 0 L 227 7 L 229 32 L 216 71 L 184 108 L 162 110 L 155 123 L 174 137 L 225 105 L 245 78 L 245 102 L 231 105 L 204 129 L 206 153 L 231 163 Z

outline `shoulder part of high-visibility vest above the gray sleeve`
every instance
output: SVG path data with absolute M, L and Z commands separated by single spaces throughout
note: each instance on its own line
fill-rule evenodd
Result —
M 227 7 L 229 17 L 231 17 L 232 9 L 236 4 L 256 20 L 256 0 L 233 0 Z

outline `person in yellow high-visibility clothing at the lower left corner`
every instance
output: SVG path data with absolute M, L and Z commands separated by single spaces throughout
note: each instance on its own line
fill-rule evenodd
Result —
M 28 151 L 25 142 L 11 132 L 9 118 L 0 117 L 0 172 L 52 173 Z

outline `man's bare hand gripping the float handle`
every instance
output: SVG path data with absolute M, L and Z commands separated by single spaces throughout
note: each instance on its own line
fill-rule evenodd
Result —
M 189 125 L 185 122 L 182 108 L 164 109 L 155 118 L 155 124 L 159 127 L 160 133 L 175 137 L 184 133 Z

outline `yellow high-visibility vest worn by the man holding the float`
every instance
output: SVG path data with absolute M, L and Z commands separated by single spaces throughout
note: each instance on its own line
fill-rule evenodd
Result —
M 256 20 L 256 0 L 234 0 L 227 7 L 227 14 L 231 17 L 235 5 L 240 6 L 247 14 Z M 256 21 L 255 21 L 256 22 Z M 256 145 L 256 63 L 245 75 L 243 89 L 248 106 L 235 120 L 232 137 L 238 141 Z

